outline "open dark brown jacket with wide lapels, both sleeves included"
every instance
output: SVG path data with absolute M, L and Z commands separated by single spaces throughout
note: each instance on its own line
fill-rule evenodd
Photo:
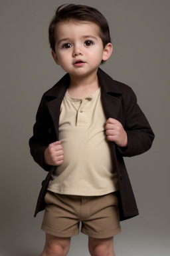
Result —
M 120 121 L 128 134 L 128 147 L 126 148 L 118 147 L 111 142 L 112 155 L 120 185 L 120 191 L 117 195 L 120 206 L 120 220 L 122 221 L 139 214 L 123 157 L 132 157 L 147 151 L 151 147 L 154 134 L 145 115 L 137 105 L 135 94 L 128 85 L 114 81 L 101 69 L 98 69 L 98 79 L 106 119 L 112 117 Z M 45 171 L 48 171 L 46 179 L 42 181 L 35 216 L 45 207 L 44 195 L 52 172 L 56 168 L 44 163 L 43 154 L 50 143 L 59 140 L 60 105 L 69 83 L 70 77 L 66 74 L 54 87 L 44 93 L 37 111 L 33 137 L 29 141 L 31 155 Z

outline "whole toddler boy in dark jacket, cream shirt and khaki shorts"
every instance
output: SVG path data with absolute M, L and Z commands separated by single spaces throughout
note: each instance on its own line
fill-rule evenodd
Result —
M 61 6 L 48 32 L 66 75 L 42 96 L 29 141 L 48 171 L 35 211 L 45 208 L 42 256 L 66 255 L 80 221 L 90 254 L 113 256 L 120 221 L 138 214 L 123 157 L 147 151 L 153 131 L 131 88 L 99 68 L 112 43 L 98 10 Z

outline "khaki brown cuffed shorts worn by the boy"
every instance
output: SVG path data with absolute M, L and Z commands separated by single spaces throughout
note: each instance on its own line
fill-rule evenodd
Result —
M 118 198 L 115 193 L 84 197 L 60 195 L 48 191 L 42 230 L 57 237 L 72 237 L 81 232 L 94 238 L 120 233 Z

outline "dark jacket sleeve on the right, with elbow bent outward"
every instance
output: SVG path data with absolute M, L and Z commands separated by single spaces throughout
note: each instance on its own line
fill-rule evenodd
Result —
M 149 122 L 137 105 L 137 98 L 132 89 L 124 99 L 124 129 L 128 135 L 128 147 L 117 147 L 123 157 L 132 157 L 149 150 L 155 137 Z

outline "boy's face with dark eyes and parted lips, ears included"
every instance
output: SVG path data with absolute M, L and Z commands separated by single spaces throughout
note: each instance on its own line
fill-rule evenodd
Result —
M 68 21 L 55 27 L 54 61 L 70 76 L 96 73 L 102 60 L 112 53 L 112 44 L 103 47 L 100 28 L 92 22 Z

